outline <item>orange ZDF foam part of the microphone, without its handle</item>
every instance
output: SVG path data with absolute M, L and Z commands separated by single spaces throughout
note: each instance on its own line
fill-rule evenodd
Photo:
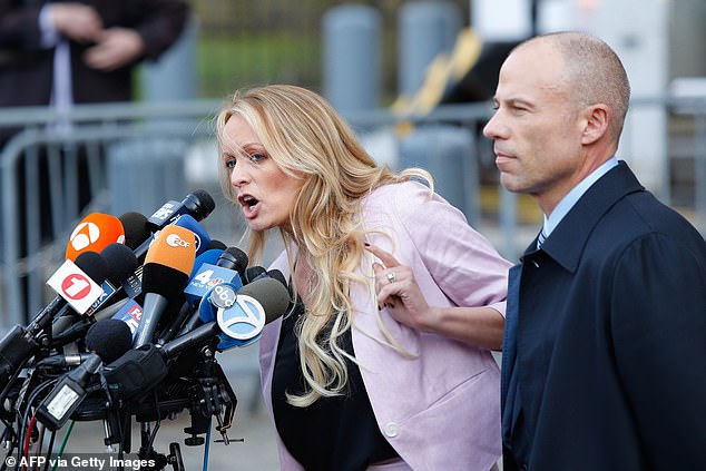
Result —
M 196 237 L 193 232 L 170 224 L 159 232 L 147 251 L 145 265 L 165 265 L 188 277 L 196 258 L 195 245 Z

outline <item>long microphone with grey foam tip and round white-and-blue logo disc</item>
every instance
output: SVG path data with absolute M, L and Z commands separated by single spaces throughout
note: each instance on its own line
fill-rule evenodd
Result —
M 215 290 L 215 288 L 214 288 Z M 129 350 L 115 362 L 106 365 L 104 372 L 109 384 L 117 384 L 117 390 L 126 400 L 149 392 L 168 374 L 169 361 L 192 346 L 213 342 L 220 332 L 237 335 L 243 345 L 259 337 L 262 328 L 286 312 L 290 295 L 284 286 L 272 278 L 264 278 L 241 288 L 236 301 L 233 292 L 228 312 L 218 316 L 217 321 L 204 324 L 186 335 L 167 342 L 161 347 L 151 344 Z M 204 300 L 202 304 L 206 302 Z M 222 305 L 224 300 L 217 301 Z M 242 325 L 241 325 L 242 324 Z

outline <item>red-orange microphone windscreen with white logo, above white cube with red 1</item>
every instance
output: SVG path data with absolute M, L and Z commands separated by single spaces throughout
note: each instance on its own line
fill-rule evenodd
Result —
M 82 252 L 100 252 L 115 242 L 125 242 L 120 219 L 109 214 L 91 213 L 78 223 L 69 236 L 66 258 L 76 262 L 76 257 Z

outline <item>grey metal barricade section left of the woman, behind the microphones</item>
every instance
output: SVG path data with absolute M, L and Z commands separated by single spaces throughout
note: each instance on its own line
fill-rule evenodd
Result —
M 111 178 L 111 168 L 126 168 L 125 159 L 121 166 L 108 165 L 111 153 L 119 154 L 117 146 L 168 141 L 173 163 L 184 165 L 185 157 L 178 155 L 178 149 L 186 154 L 192 143 L 209 136 L 210 126 L 204 121 L 216 109 L 212 101 L 87 105 L 63 114 L 43 107 L 3 109 L 0 126 L 21 126 L 23 130 L 6 144 L 0 155 L 0 326 L 24 323 L 51 296 L 45 288 L 50 275 L 47 271 L 61 264 L 68 234 L 82 216 L 109 213 L 116 194 L 145 194 L 127 176 L 121 180 Z M 133 145 L 130 150 L 139 148 L 158 151 L 160 147 Z M 170 165 L 163 155 L 150 151 L 135 157 L 135 166 Z M 156 169 L 154 165 L 151 168 Z M 157 175 L 153 178 L 158 180 Z M 122 187 L 115 188 L 115 181 L 121 181 Z M 161 203 L 155 203 L 154 209 Z

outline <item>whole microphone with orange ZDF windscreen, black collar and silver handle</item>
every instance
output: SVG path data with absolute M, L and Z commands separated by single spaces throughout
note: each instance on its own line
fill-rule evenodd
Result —
M 159 317 L 169 300 L 180 295 L 194 266 L 194 233 L 170 225 L 161 229 L 147 252 L 143 267 L 143 316 L 137 326 L 135 347 L 151 343 Z

